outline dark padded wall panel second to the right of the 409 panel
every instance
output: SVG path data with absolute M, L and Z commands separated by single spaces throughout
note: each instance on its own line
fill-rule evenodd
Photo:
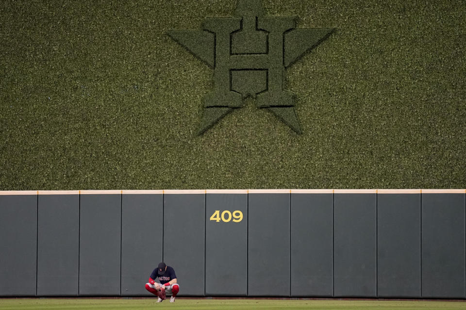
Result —
M 291 194 L 291 296 L 332 296 L 333 194 Z

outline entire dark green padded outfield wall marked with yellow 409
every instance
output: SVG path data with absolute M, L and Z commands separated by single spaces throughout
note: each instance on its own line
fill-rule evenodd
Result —
M 3 191 L 0 296 L 149 296 L 165 261 L 185 296 L 466 298 L 465 209 L 465 189 Z

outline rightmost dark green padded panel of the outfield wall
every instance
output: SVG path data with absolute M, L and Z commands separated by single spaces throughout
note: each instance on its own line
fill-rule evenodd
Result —
M 422 297 L 465 298 L 465 195 L 422 194 Z

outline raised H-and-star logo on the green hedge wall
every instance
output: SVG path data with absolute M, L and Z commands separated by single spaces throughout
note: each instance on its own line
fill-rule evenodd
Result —
M 296 29 L 297 16 L 265 16 L 260 0 L 238 0 L 234 17 L 206 18 L 199 30 L 168 35 L 212 67 L 214 90 L 203 98 L 199 135 L 248 96 L 301 133 L 296 95 L 283 89 L 285 69 L 333 31 Z

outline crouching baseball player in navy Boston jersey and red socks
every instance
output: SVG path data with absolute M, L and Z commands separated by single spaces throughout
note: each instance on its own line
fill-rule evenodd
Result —
M 159 278 L 160 283 L 155 282 L 157 278 Z M 146 283 L 146 290 L 159 297 L 157 302 L 164 301 L 166 294 L 171 294 L 170 302 L 174 302 L 176 294 L 180 291 L 180 286 L 176 281 L 175 270 L 165 263 L 159 263 L 158 268 L 152 271 L 149 283 Z

